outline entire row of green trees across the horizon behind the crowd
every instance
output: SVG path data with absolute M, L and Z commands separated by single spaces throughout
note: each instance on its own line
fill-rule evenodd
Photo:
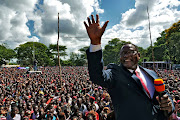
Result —
M 180 21 L 174 23 L 169 29 L 164 30 L 153 45 L 155 61 L 171 61 L 174 64 L 180 64 Z M 103 49 L 104 64 L 119 63 L 120 48 L 130 42 L 121 41 L 114 38 L 108 42 Z M 19 45 L 14 50 L 8 49 L 6 45 L 0 45 L 0 64 L 5 64 L 7 60 L 17 59 L 17 64 L 22 66 L 33 65 L 35 59 L 38 66 L 57 66 L 58 53 L 57 45 L 50 44 L 48 47 L 39 42 L 27 42 Z M 61 60 L 63 66 L 82 66 L 86 64 L 86 49 L 88 46 L 79 49 L 80 53 L 70 53 L 68 60 Z M 141 53 L 140 63 L 144 60 L 152 61 L 152 48 L 147 49 L 138 47 Z M 66 57 L 67 47 L 59 46 L 60 56 Z M 34 59 L 35 58 L 35 59 Z

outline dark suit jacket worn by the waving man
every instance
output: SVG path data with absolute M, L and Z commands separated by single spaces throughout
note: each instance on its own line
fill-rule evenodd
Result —
M 164 111 L 160 111 L 157 92 L 153 99 L 147 96 L 140 80 L 122 64 L 109 64 L 103 69 L 102 51 L 86 51 L 88 70 L 93 83 L 108 88 L 111 96 L 116 120 L 164 120 Z M 113 59 L 113 58 L 112 58 Z M 157 74 L 149 69 L 145 73 L 154 81 Z M 154 83 L 154 82 L 153 82 Z

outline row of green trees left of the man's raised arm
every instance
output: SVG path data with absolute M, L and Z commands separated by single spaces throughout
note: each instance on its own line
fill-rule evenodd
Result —
M 60 60 L 63 66 L 82 66 L 85 64 L 85 50 L 81 48 L 80 54 L 70 53 L 68 60 Z M 66 57 L 67 47 L 59 46 L 60 56 Z M 5 45 L 0 45 L 0 64 L 6 64 L 7 60 L 17 59 L 16 64 L 21 66 L 32 66 L 37 61 L 38 66 L 57 66 L 58 52 L 57 45 L 50 44 L 48 47 L 39 42 L 27 42 L 19 45 L 14 50 L 7 49 Z M 13 63 L 10 63 L 13 64 Z

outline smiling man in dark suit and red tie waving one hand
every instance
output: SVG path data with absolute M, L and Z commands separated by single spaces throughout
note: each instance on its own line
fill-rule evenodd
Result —
M 126 44 L 120 50 L 120 65 L 109 64 L 103 69 L 101 37 L 109 21 L 100 27 L 99 16 L 88 17 L 84 22 L 91 40 L 86 51 L 90 79 L 108 88 L 116 120 L 167 120 L 174 110 L 173 101 L 167 94 L 159 100 L 154 88 L 157 74 L 138 65 L 140 53 L 133 44 Z M 113 58 L 112 58 L 113 59 Z M 169 114 L 165 116 L 164 112 Z

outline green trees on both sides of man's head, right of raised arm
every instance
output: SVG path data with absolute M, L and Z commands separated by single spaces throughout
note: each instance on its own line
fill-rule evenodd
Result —
M 152 49 L 155 61 L 171 61 L 173 64 L 180 64 L 180 21 L 174 23 L 169 29 L 164 30 L 157 38 L 153 47 L 147 49 L 138 47 L 141 53 L 140 63 L 144 60 L 153 61 Z M 103 50 L 104 63 L 119 63 L 119 51 L 122 45 L 130 43 L 117 38 L 108 42 Z

